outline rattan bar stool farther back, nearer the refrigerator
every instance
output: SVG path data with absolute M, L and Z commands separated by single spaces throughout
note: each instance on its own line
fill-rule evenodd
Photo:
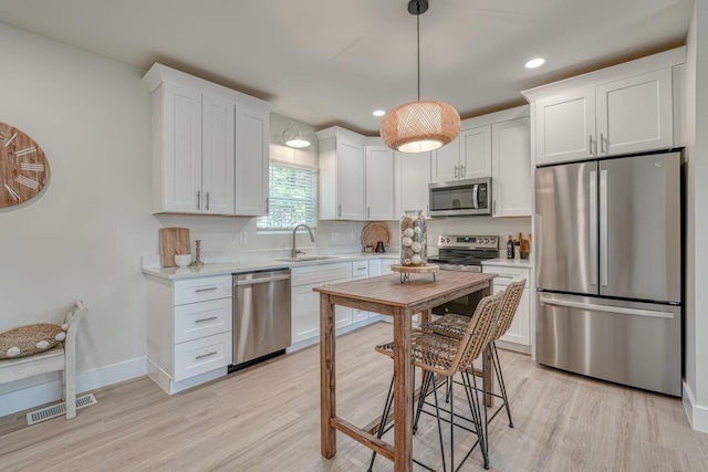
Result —
M 497 398 L 502 400 L 502 405 L 507 410 L 507 417 L 509 417 L 509 427 L 513 428 L 513 421 L 511 420 L 511 409 L 509 407 L 509 398 L 507 396 L 507 387 L 504 385 L 504 377 L 501 373 L 501 364 L 499 361 L 499 353 L 497 353 L 497 340 L 507 333 L 511 323 L 513 322 L 513 317 L 517 314 L 517 308 L 519 307 L 519 302 L 521 301 L 521 296 L 523 295 L 523 289 L 525 286 L 527 280 L 522 279 L 519 282 L 511 282 L 507 285 L 504 290 L 504 296 L 501 302 L 501 314 L 499 316 L 499 323 L 496 326 L 496 329 L 492 334 L 491 340 L 489 343 L 489 349 L 492 360 L 492 367 L 494 369 L 494 375 L 497 376 L 497 382 L 499 384 L 499 390 L 501 395 L 491 394 Z M 423 331 L 429 331 L 439 335 L 450 336 L 454 338 L 461 338 L 465 333 L 465 327 L 469 323 L 469 317 L 465 315 L 457 314 L 447 314 L 439 319 L 436 319 L 430 323 L 426 323 L 420 326 Z M 470 370 L 471 367 L 470 367 Z M 489 417 L 489 421 L 491 421 L 499 411 L 501 411 L 501 406 L 494 411 L 493 415 Z

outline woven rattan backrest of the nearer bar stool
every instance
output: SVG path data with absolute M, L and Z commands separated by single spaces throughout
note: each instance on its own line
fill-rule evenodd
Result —
M 491 342 L 494 329 L 499 325 L 501 302 L 504 292 L 483 297 L 472 315 L 462 339 L 460 339 L 460 358 L 456 359 L 457 370 L 464 370 L 481 354 Z M 462 346 L 465 346 L 462 348 Z

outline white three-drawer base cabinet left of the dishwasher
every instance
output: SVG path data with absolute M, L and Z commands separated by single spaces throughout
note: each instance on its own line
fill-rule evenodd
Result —
M 148 277 L 147 370 L 168 394 L 227 374 L 232 355 L 231 275 Z

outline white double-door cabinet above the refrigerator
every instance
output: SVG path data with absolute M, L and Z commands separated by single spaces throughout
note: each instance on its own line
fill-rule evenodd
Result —
M 677 48 L 522 92 L 534 104 L 535 164 L 548 165 L 670 148 Z M 678 96 L 678 95 L 677 95 Z

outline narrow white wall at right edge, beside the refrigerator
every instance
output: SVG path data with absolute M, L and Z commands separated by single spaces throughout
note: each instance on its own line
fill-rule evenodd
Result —
M 686 317 L 684 405 L 708 432 L 708 7 L 696 2 L 686 67 Z

